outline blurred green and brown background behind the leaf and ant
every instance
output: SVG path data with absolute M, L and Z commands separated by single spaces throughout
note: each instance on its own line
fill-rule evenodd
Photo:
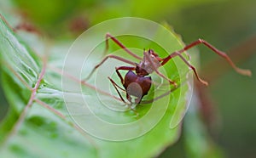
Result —
M 253 76 L 236 74 L 216 54 L 198 47 L 201 76 L 210 81 L 205 93 L 218 116 L 209 133 L 227 157 L 256 157 L 255 0 L 2 0 L 0 4 L 3 14 L 18 14 L 55 40 L 75 38 L 102 20 L 136 16 L 167 22 L 185 43 L 203 38 L 228 52 L 240 67 L 253 71 Z M 8 104 L 2 90 L 0 93 L 3 119 Z M 182 136 L 160 157 L 185 156 L 183 144 Z

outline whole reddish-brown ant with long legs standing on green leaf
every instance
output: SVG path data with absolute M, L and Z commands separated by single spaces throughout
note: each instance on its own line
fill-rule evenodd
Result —
M 144 50 L 143 58 L 140 56 L 137 56 L 137 54 L 132 53 L 128 48 L 125 47 L 124 44 L 119 42 L 119 40 L 117 38 L 113 37 L 110 33 L 106 34 L 105 53 L 108 51 L 108 39 L 112 39 L 113 42 L 115 42 L 120 48 L 123 48 L 126 53 L 130 54 L 131 56 L 133 56 L 136 59 L 140 59 L 141 60 L 140 63 L 135 63 L 128 59 L 119 57 L 117 55 L 109 54 L 104 59 L 102 59 L 102 61 L 98 65 L 96 65 L 94 67 L 94 69 L 90 72 L 90 75 L 87 76 L 85 78 L 85 80 L 88 80 L 90 78 L 90 76 L 93 74 L 93 72 L 96 71 L 96 69 L 99 66 L 101 66 L 109 58 L 118 59 L 124 63 L 129 64 L 129 65 L 133 65 L 133 66 L 116 67 L 115 71 L 116 71 L 117 75 L 119 76 L 119 79 L 124 88 L 119 87 L 119 85 L 116 82 L 114 82 L 112 78 L 108 77 L 110 82 L 112 82 L 113 87 L 116 89 L 117 93 L 119 94 L 120 99 L 125 104 L 126 104 L 125 99 L 123 99 L 122 95 L 119 93 L 118 88 L 126 93 L 126 99 L 129 100 L 130 103 L 131 103 L 131 96 L 135 96 L 136 97 L 135 104 L 139 104 L 142 101 L 143 96 L 148 94 L 148 91 L 149 91 L 149 89 L 151 87 L 151 83 L 152 83 L 151 77 L 148 75 L 153 72 L 156 72 L 157 75 L 166 79 L 170 84 L 177 87 L 176 82 L 172 81 L 170 78 L 168 78 L 167 76 L 163 75 L 160 71 L 158 71 L 158 68 L 160 66 L 166 65 L 166 63 L 170 59 L 173 59 L 176 56 L 178 56 L 180 59 L 182 59 L 183 62 L 186 65 L 188 65 L 189 68 L 192 69 L 192 71 L 194 71 L 195 77 L 197 78 L 197 80 L 199 82 L 201 82 L 204 85 L 208 85 L 208 83 L 206 81 L 202 80 L 198 76 L 198 73 L 195 70 L 195 67 L 193 65 L 190 65 L 189 62 L 186 59 L 184 59 L 184 57 L 182 56 L 183 52 L 185 52 L 189 48 L 193 48 L 199 44 L 204 44 L 205 46 L 207 46 L 207 48 L 212 49 L 213 52 L 215 52 L 219 56 L 226 59 L 227 62 L 235 69 L 235 71 L 237 73 L 239 73 L 241 75 L 251 76 L 251 71 L 242 70 L 242 69 L 236 67 L 236 65 L 232 62 L 232 60 L 230 59 L 230 57 L 227 54 L 225 54 L 222 51 L 219 51 L 217 48 L 213 47 L 210 43 L 208 43 L 202 39 L 198 39 L 195 42 L 192 42 L 189 45 L 185 46 L 184 48 L 182 48 L 178 51 L 175 51 L 172 54 L 169 54 L 168 56 L 166 56 L 166 58 L 160 58 L 158 54 L 154 53 L 153 49 L 148 49 L 148 51 Z M 119 71 L 128 71 L 125 75 L 125 78 L 123 78 L 123 76 L 121 76 Z M 135 72 L 133 72 L 133 71 L 135 71 Z

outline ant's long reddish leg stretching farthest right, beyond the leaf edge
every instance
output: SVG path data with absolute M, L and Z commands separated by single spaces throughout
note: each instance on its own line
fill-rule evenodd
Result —
M 183 52 L 185 52 L 186 50 L 188 50 L 189 48 L 193 48 L 195 47 L 196 45 L 199 45 L 199 44 L 204 44 L 205 46 L 207 46 L 207 48 L 210 48 L 212 49 L 213 52 L 215 52 L 216 54 L 218 54 L 219 56 L 223 57 L 224 59 L 227 60 L 227 62 L 233 67 L 233 69 L 235 69 L 235 71 L 241 75 L 246 75 L 246 76 L 251 76 L 252 75 L 252 72 L 249 71 L 249 70 L 243 70 L 243 69 L 240 69 L 238 67 L 236 67 L 236 65 L 233 63 L 233 61 L 230 59 L 230 57 L 225 54 L 224 52 L 218 50 L 217 48 L 213 47 L 210 43 L 202 40 L 202 39 L 198 39 L 197 41 L 195 42 L 192 42 L 190 43 L 189 45 L 185 46 L 183 49 L 177 51 L 176 53 L 177 54 L 182 54 Z M 169 56 L 167 56 L 165 59 L 162 59 L 162 63 L 161 65 L 165 65 L 167 61 L 169 61 L 170 59 L 173 58 L 173 55 L 170 54 Z

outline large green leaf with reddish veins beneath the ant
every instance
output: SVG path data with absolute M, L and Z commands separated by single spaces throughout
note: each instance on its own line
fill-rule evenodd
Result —
M 125 21 L 127 22 L 127 19 Z M 137 25 L 136 29 L 131 30 L 141 33 L 145 29 L 144 26 Z M 112 64 L 111 61 L 102 65 L 89 81 L 81 84 L 82 78 L 102 59 L 106 30 L 113 35 L 117 34 L 116 29 L 108 27 L 107 24 L 104 29 L 97 31 L 97 34 L 89 31 L 85 38 L 73 43 L 67 56 L 63 50 L 67 51 L 70 43 L 54 43 L 53 48 L 48 45 L 45 50 L 49 52 L 38 55 L 32 50 L 39 50 L 33 47 L 44 45 L 39 43 L 42 41 L 27 40 L 27 35 L 18 37 L 0 20 L 3 88 L 10 104 L 9 116 L 0 128 L 0 151 L 3 157 L 152 157 L 160 154 L 166 146 L 175 143 L 191 94 L 192 85 L 187 77 L 187 66 L 181 59 L 173 59 L 160 69 L 180 85 L 170 94 L 168 91 L 173 86 L 169 86 L 155 73 L 152 74 L 154 82 L 160 86 L 154 85 L 143 101 L 165 93 L 168 95 L 153 103 L 137 105 L 139 116 L 136 116 L 135 112 L 117 99 L 117 93 L 108 82 L 106 65 Z M 183 48 L 177 35 L 164 27 L 157 27 L 157 30 L 151 33 L 148 35 L 150 40 L 134 36 L 118 39 L 129 48 L 154 48 L 160 57 Z M 30 47 L 20 38 L 30 41 L 27 43 Z M 88 43 L 97 40 L 102 42 L 93 48 L 91 54 L 84 52 L 84 49 L 90 50 L 91 44 Z M 85 44 L 81 45 L 81 42 Z M 142 54 L 136 49 L 132 50 Z M 110 52 L 131 59 L 113 42 L 110 42 Z M 84 61 L 86 57 L 85 64 L 79 65 L 80 60 Z M 114 67 L 111 70 L 113 71 Z M 111 77 L 120 84 L 116 74 Z M 98 85 L 101 82 L 108 87 Z M 108 88 L 112 88 L 111 91 L 108 92 Z M 112 93 L 112 96 L 102 91 Z M 110 110 L 105 105 L 115 110 Z M 124 111 L 118 111 L 117 108 Z M 117 127 L 96 124 L 98 122 L 93 120 L 94 116 Z M 126 126 L 129 123 L 137 123 L 137 126 Z M 149 128 L 143 131 L 147 124 L 150 125 Z

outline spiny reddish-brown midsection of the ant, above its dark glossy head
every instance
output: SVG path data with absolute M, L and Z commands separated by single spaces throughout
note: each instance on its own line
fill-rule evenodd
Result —
M 138 76 L 147 76 L 160 67 L 160 62 L 156 58 L 153 50 L 149 49 L 148 51 L 144 51 L 143 54 L 143 60 L 136 66 Z

